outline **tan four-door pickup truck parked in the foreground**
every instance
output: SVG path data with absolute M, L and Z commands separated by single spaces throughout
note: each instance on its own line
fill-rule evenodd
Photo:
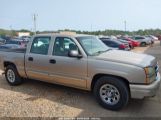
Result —
M 155 96 L 158 68 L 153 56 L 111 50 L 90 35 L 41 34 L 26 50 L 0 51 L 0 69 L 10 85 L 35 79 L 92 91 L 110 110 L 120 110 L 130 98 Z

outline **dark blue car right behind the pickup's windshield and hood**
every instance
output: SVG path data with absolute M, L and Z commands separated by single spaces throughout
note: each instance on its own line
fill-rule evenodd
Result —
M 106 44 L 108 47 L 112 49 L 119 49 L 119 50 L 130 50 L 129 44 L 128 43 L 122 43 L 117 40 L 112 40 L 112 39 L 105 39 L 105 38 L 100 38 L 104 44 Z

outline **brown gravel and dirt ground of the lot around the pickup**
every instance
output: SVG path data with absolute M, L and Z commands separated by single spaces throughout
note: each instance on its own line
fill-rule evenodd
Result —
M 136 48 L 156 56 L 161 66 L 161 46 Z M 161 71 L 160 71 L 161 72 Z M 161 117 L 161 89 L 156 97 L 131 100 L 121 111 L 100 107 L 90 92 L 48 84 L 25 81 L 12 87 L 0 76 L 0 116 L 7 117 Z

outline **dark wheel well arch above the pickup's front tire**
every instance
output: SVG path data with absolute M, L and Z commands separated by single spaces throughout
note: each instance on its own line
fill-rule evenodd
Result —
M 115 77 L 115 78 L 119 78 L 121 81 L 123 81 L 126 86 L 128 87 L 129 91 L 130 91 L 130 87 L 129 87 L 129 81 L 123 77 L 120 76 L 115 76 L 115 75 L 108 75 L 108 74 L 97 74 L 93 77 L 92 79 L 92 83 L 91 83 L 91 90 L 93 91 L 94 85 L 97 82 L 97 80 L 103 76 L 111 76 L 111 77 Z

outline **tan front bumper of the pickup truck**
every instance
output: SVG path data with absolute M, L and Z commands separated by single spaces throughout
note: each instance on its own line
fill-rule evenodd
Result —
M 149 85 L 130 84 L 131 98 L 143 99 L 144 97 L 155 96 L 160 87 L 160 74 L 157 73 L 157 79 Z

